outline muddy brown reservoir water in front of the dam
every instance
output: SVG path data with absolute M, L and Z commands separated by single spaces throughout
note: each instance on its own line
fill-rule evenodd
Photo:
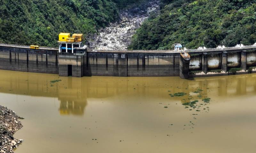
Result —
M 0 70 L 0 82 L 0 105 L 25 118 L 16 153 L 256 151 L 256 74 L 183 80 Z M 169 95 L 178 92 L 186 95 Z M 194 100 L 195 109 L 182 105 Z

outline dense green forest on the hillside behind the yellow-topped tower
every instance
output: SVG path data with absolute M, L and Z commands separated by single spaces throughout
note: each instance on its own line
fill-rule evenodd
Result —
M 94 33 L 140 0 L 0 0 L 0 42 L 56 46 L 58 34 Z

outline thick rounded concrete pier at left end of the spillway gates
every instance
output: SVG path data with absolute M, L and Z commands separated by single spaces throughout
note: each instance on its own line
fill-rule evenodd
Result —
M 180 78 L 188 79 L 190 55 L 183 55 L 180 53 Z

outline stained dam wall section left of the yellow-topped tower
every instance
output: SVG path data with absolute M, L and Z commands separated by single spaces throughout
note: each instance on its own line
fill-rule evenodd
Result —
M 52 49 L 0 45 L 0 69 L 59 74 L 58 55 Z

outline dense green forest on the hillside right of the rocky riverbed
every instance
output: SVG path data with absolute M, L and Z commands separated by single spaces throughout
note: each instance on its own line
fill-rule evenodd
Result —
M 256 42 L 256 0 L 163 0 L 167 5 L 137 30 L 129 49 L 189 49 Z

